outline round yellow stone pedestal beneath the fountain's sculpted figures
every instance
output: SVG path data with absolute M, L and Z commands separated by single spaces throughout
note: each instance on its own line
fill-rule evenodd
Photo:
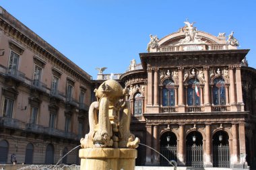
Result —
M 81 170 L 134 170 L 137 150 L 133 148 L 82 148 Z

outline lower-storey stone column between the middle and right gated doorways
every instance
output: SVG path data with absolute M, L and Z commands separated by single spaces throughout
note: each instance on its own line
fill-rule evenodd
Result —
M 205 167 L 212 167 L 212 138 L 211 138 L 211 125 L 205 125 Z

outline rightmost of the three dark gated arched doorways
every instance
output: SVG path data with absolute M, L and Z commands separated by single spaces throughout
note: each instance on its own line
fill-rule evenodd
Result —
M 230 150 L 228 143 L 228 134 L 220 130 L 212 136 L 213 143 L 213 166 L 230 167 Z

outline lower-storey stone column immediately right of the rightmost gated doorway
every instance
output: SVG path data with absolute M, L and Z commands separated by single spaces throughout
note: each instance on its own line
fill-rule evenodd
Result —
M 230 158 L 232 167 L 238 164 L 238 143 L 237 143 L 237 124 L 232 124 L 232 155 Z

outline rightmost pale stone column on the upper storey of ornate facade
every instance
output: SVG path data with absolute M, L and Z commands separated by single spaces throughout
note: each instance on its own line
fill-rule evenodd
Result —
M 244 105 L 245 104 L 243 103 L 241 66 L 236 67 L 236 99 L 237 99 L 237 104 L 241 106 L 240 110 L 244 111 Z

